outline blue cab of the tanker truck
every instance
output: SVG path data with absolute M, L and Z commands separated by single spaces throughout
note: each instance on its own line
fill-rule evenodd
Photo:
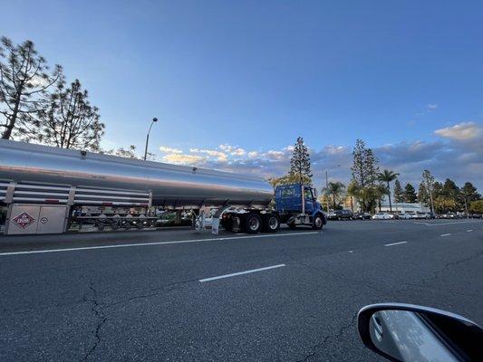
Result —
M 327 224 L 327 218 L 317 200 L 317 191 L 311 186 L 276 186 L 275 211 L 280 217 L 280 223 L 287 224 L 290 228 L 311 225 L 315 230 L 320 230 Z

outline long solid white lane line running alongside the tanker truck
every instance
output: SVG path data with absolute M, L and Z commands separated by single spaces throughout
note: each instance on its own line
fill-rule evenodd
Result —
M 300 236 L 300 235 L 312 234 L 312 233 L 318 233 L 318 232 L 275 233 L 275 234 L 271 233 L 271 234 L 265 234 L 265 235 L 231 236 L 231 237 L 210 238 L 210 239 L 178 240 L 178 241 L 175 241 L 175 242 L 120 243 L 120 244 L 114 244 L 114 245 L 83 246 L 83 247 L 79 247 L 79 248 L 32 250 L 32 251 L 28 251 L 28 252 L 0 252 L 0 256 L 22 255 L 22 254 L 39 254 L 39 253 L 44 253 L 44 252 L 77 252 L 77 251 L 81 251 L 81 250 L 129 248 L 129 247 L 133 247 L 133 246 L 165 245 L 165 244 L 170 244 L 170 243 L 219 242 L 219 241 L 224 241 L 224 240 L 256 239 L 256 238 L 277 237 L 277 236 Z

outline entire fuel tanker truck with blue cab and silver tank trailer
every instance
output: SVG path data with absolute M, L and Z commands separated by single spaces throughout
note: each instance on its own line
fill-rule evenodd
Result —
M 274 202 L 275 201 L 275 202 Z M 169 165 L 0 139 L 0 205 L 5 233 L 64 233 L 72 223 L 98 229 L 154 226 L 159 214 L 189 214 L 213 233 L 275 233 L 326 223 L 316 190 L 277 186 L 230 172 Z

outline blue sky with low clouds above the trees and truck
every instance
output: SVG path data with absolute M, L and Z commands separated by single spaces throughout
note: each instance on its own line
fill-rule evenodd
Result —
M 157 117 L 159 160 L 280 175 L 301 135 L 316 177 L 341 163 L 333 176 L 347 180 L 362 138 L 403 182 L 430 168 L 483 186 L 482 2 L 19 1 L 2 13 L 0 34 L 33 40 L 90 91 L 104 148 L 142 149 Z

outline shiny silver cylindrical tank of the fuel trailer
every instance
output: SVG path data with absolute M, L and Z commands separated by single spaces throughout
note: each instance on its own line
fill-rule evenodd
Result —
M 266 206 L 264 180 L 196 167 L 140 161 L 0 139 L 0 180 L 151 191 L 153 205 Z

